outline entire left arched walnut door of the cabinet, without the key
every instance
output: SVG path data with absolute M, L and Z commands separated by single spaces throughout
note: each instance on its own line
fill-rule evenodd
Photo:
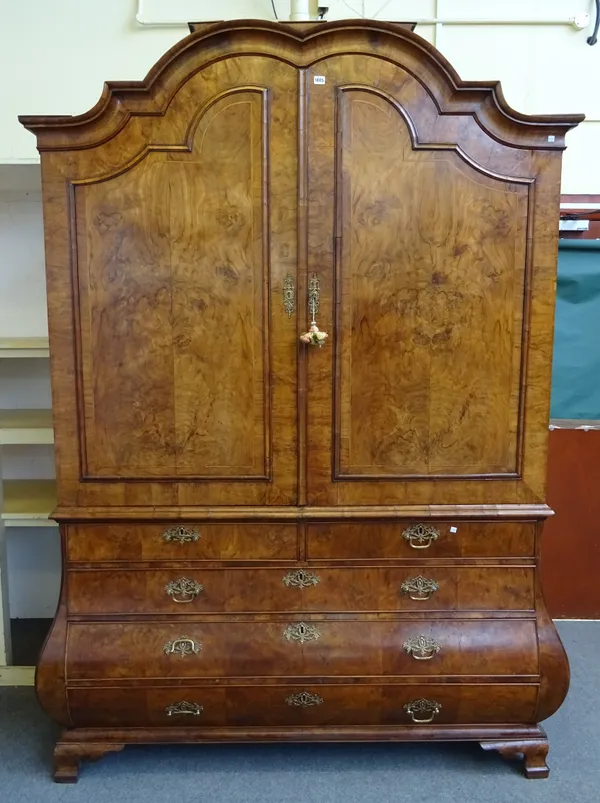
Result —
M 79 502 L 296 500 L 297 77 L 276 66 L 217 61 L 71 157 Z

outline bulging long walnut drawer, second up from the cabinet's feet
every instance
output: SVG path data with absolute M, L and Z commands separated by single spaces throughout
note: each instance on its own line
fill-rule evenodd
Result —
M 70 623 L 70 680 L 538 674 L 533 621 Z

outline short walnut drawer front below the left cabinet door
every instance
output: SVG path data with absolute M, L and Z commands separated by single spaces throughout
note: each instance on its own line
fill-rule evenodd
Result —
M 77 524 L 70 561 L 296 560 L 295 524 Z

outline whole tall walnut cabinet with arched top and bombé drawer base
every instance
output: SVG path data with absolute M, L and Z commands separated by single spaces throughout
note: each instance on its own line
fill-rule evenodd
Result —
M 515 112 L 407 24 L 192 28 L 87 114 L 21 118 L 64 556 L 36 681 L 55 778 L 128 743 L 246 739 L 477 740 L 544 777 L 582 117 Z

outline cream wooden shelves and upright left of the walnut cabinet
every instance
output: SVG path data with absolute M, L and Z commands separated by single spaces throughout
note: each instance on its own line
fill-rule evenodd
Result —
M 0 360 L 47 359 L 47 337 L 0 337 Z M 0 409 L 0 449 L 9 445 L 54 443 L 50 410 Z M 33 684 L 34 667 L 10 666 L 10 614 L 6 535 L 14 527 L 54 527 L 49 516 L 56 506 L 54 480 L 6 480 L 0 460 L 0 686 Z

